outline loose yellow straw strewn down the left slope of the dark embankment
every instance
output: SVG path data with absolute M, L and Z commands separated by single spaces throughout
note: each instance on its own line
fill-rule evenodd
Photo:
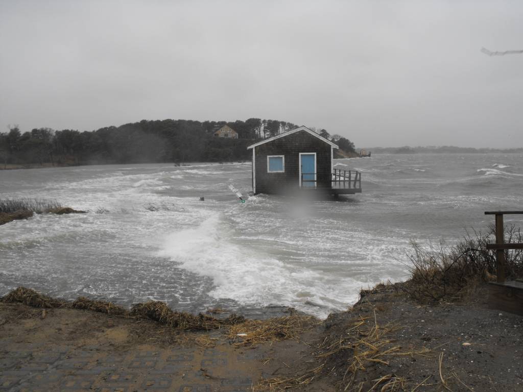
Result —
M 427 355 L 426 348 L 417 351 L 402 350 L 390 335 L 394 326 L 381 326 L 369 317 L 359 317 L 347 323 L 339 333 L 327 335 L 318 347 L 314 368 L 293 377 L 263 379 L 254 390 L 283 391 L 311 384 L 315 379 L 331 376 L 338 390 L 343 391 L 403 391 L 411 390 L 412 383 L 395 374 L 386 374 L 367 381 L 363 372 L 372 365 L 389 365 L 392 356 Z M 362 377 L 358 377 L 358 376 Z M 363 378 L 363 381 L 359 379 Z

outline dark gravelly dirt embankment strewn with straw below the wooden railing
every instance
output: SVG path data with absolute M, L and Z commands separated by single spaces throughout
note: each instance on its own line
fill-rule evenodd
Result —
M 488 309 L 484 286 L 430 306 L 402 285 L 363 291 L 353 310 L 325 321 L 313 350 L 320 384 L 303 390 L 523 390 L 521 316 Z

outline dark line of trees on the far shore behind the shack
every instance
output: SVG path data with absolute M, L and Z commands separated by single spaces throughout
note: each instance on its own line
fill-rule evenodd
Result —
M 229 125 L 238 139 L 215 137 Z M 231 162 L 250 159 L 247 146 L 297 125 L 257 118 L 245 121 L 142 120 L 95 131 L 38 128 L 22 133 L 18 126 L 0 133 L 0 162 L 7 165 L 89 165 L 160 162 Z M 346 151 L 354 144 L 326 130 L 315 132 Z

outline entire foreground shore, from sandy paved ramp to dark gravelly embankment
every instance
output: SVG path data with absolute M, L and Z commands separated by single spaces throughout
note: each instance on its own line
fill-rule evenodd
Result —
M 0 303 L 0 390 L 523 390 L 523 318 L 487 309 L 482 290 L 475 302 L 420 306 L 380 286 L 298 339 L 261 344 Z

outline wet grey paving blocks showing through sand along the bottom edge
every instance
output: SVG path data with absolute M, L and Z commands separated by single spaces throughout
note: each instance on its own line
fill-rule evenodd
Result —
M 3 352 L 0 390 L 232 392 L 251 390 L 257 382 L 257 355 L 249 358 L 221 345 L 116 353 L 100 349 Z

